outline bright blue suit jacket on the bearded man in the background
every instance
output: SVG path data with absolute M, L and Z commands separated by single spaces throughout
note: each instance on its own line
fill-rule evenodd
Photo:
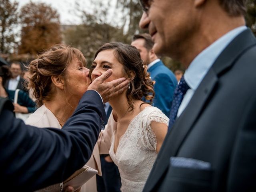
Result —
M 169 116 L 172 95 L 177 85 L 176 77 L 162 61 L 150 67 L 148 72 L 150 73 L 151 79 L 156 81 L 154 85 L 155 97 L 153 99 L 153 106 L 162 110 L 166 116 Z

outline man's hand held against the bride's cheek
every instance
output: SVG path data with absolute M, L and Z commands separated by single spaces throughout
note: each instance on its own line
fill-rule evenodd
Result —
M 112 75 L 112 70 L 107 70 L 100 77 L 96 78 L 87 90 L 96 90 L 102 97 L 103 102 L 106 103 L 114 97 L 120 95 L 128 88 L 130 80 L 122 77 L 111 82 L 104 82 Z

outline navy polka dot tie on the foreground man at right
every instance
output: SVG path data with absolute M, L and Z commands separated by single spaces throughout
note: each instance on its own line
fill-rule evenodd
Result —
M 168 126 L 168 131 L 172 128 L 172 125 L 176 120 L 178 109 L 180 107 L 182 99 L 189 88 L 190 87 L 184 80 L 184 76 L 182 76 L 182 78 L 180 79 L 180 83 L 176 86 L 176 89 L 174 90 L 172 106 L 171 106 L 170 116 L 169 116 L 170 122 Z

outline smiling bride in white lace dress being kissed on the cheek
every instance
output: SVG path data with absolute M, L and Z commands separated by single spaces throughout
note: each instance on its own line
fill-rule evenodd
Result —
M 169 119 L 158 108 L 141 100 L 145 96 L 152 102 L 153 82 L 134 46 L 106 43 L 94 58 L 90 69 L 92 81 L 108 69 L 113 70 L 108 81 L 120 77 L 131 80 L 127 91 L 109 101 L 113 112 L 98 144 L 100 153 L 109 152 L 118 166 L 121 190 L 142 191 L 166 136 Z

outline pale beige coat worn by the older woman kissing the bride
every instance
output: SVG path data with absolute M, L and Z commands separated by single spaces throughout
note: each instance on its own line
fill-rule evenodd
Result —
M 33 114 L 29 116 L 26 120 L 26 124 L 37 126 L 39 128 L 45 127 L 52 127 L 52 128 L 59 128 L 61 126 L 54 116 L 54 114 L 46 108 L 45 105 L 42 105 L 38 108 Z M 100 165 L 100 154 L 98 144 L 96 143 L 92 152 L 92 156 L 89 161 L 86 163 L 91 168 L 98 170 L 98 175 L 102 175 L 101 172 L 101 165 Z M 92 177 L 88 182 L 86 182 L 81 189 L 81 192 L 96 192 L 97 185 L 96 185 L 96 175 Z

